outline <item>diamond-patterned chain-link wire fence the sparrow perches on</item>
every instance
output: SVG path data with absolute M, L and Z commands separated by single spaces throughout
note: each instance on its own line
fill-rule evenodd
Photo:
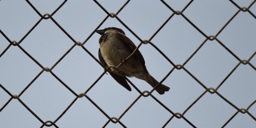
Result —
M 172 12 L 172 14 L 170 15 L 170 17 L 159 27 L 159 29 L 151 36 L 151 38 L 149 40 L 141 40 L 141 38 L 139 38 L 138 35 L 136 35 L 135 32 L 133 32 L 121 19 L 119 19 L 118 14 L 119 12 L 121 12 L 121 10 L 128 4 L 128 2 L 130 2 L 130 0 L 127 0 L 126 3 L 116 12 L 116 13 L 109 13 L 106 9 L 104 9 L 104 7 L 99 4 L 99 2 L 97 2 L 97 0 L 93 0 L 105 13 L 106 13 L 106 18 L 104 18 L 104 20 L 102 20 L 102 22 L 94 29 L 94 31 L 88 36 L 88 38 L 86 38 L 86 40 L 84 40 L 83 43 L 77 42 L 75 41 L 75 39 L 72 38 L 71 35 L 69 35 L 60 24 L 58 24 L 58 22 L 55 21 L 55 19 L 52 17 L 65 3 L 67 0 L 64 0 L 62 2 L 62 4 L 60 4 L 59 7 L 57 7 L 57 9 L 55 9 L 55 11 L 53 11 L 53 13 L 51 14 L 41 14 L 34 6 L 33 4 L 31 4 L 31 2 L 29 2 L 29 0 L 26 0 L 26 2 L 31 6 L 31 8 L 40 16 L 40 19 L 38 20 L 38 22 L 36 22 L 36 24 L 23 36 L 23 38 L 16 42 L 16 41 L 11 41 L 7 35 L 4 34 L 4 32 L 0 29 L 0 33 L 4 36 L 4 38 L 10 43 L 6 49 L 4 49 L 4 51 L 2 51 L 2 53 L 0 54 L 0 57 L 2 55 L 4 55 L 4 53 L 10 48 L 11 45 L 13 46 L 17 46 L 20 50 L 22 50 L 29 58 L 31 58 L 31 60 L 33 60 L 36 64 L 38 64 L 38 66 L 40 66 L 42 68 L 42 71 L 40 71 L 38 73 L 38 75 L 36 75 L 34 77 L 34 79 L 21 91 L 21 93 L 19 95 L 15 95 L 15 94 L 11 94 L 5 87 L 4 85 L 0 84 L 0 87 L 10 96 L 10 99 L 0 108 L 0 114 L 1 111 L 11 102 L 11 100 L 13 99 L 17 99 L 33 116 L 35 116 L 41 123 L 42 123 L 42 127 L 44 126 L 55 126 L 56 128 L 58 128 L 58 126 L 55 124 L 65 113 L 66 111 L 76 102 L 76 100 L 78 98 L 86 98 L 88 99 L 98 110 L 100 110 L 107 118 L 108 121 L 106 122 L 106 124 L 104 124 L 103 127 L 107 126 L 110 121 L 112 123 L 119 123 L 121 126 L 123 126 L 124 128 L 126 128 L 126 125 L 123 124 L 120 120 L 121 118 L 128 112 L 128 110 L 141 98 L 141 97 L 152 97 L 156 102 L 158 102 L 163 108 L 165 108 L 170 114 L 172 114 L 172 116 L 170 117 L 170 119 L 168 119 L 166 121 L 165 124 L 163 124 L 162 127 L 166 127 L 166 125 L 174 118 L 178 118 L 178 119 L 184 119 L 188 124 L 190 124 L 192 127 L 196 128 L 196 126 L 193 124 L 193 122 L 191 122 L 190 120 L 188 120 L 185 117 L 185 113 L 194 105 L 196 104 L 196 102 L 203 97 L 207 92 L 211 93 L 211 94 L 216 94 L 219 97 L 221 97 L 223 100 L 225 100 L 225 102 L 227 102 L 228 104 L 230 104 L 230 106 L 232 106 L 233 108 L 235 108 L 237 110 L 236 113 L 234 113 L 234 115 L 232 117 L 230 117 L 230 119 L 228 119 L 225 124 L 223 124 L 222 127 L 225 127 L 238 113 L 247 113 L 250 117 L 252 117 L 252 119 L 254 119 L 256 121 L 256 118 L 249 112 L 249 108 L 252 107 L 256 100 L 254 100 L 252 102 L 252 104 L 250 104 L 246 109 L 245 108 L 238 108 L 237 106 L 235 106 L 232 102 L 230 102 L 228 99 L 226 99 L 223 95 L 221 95 L 220 93 L 218 93 L 218 88 L 221 87 L 221 85 L 226 81 L 226 79 L 228 79 L 228 77 L 230 77 L 230 75 L 232 75 L 232 73 L 236 70 L 236 68 L 241 65 L 241 64 L 248 64 L 249 66 L 252 67 L 252 69 L 254 69 L 254 71 L 256 70 L 255 66 L 253 64 L 250 63 L 250 60 L 255 56 L 256 52 L 254 52 L 251 57 L 249 57 L 248 60 L 241 60 L 241 58 L 239 58 L 236 54 L 234 54 L 227 46 L 225 46 L 221 40 L 219 40 L 217 37 L 218 35 L 225 29 L 225 27 L 236 17 L 236 15 L 238 13 L 240 13 L 241 11 L 243 12 L 248 12 L 250 15 L 252 15 L 252 17 L 256 18 L 256 16 L 249 10 L 250 7 L 252 7 L 252 5 L 256 2 L 256 0 L 254 0 L 248 7 L 239 7 L 238 4 L 236 4 L 236 2 L 234 2 L 233 0 L 230 0 L 230 2 L 232 4 L 234 4 L 234 6 L 236 6 L 238 8 L 238 11 L 232 16 L 232 18 L 230 18 L 230 20 L 218 31 L 218 33 L 216 33 L 216 35 L 206 35 L 201 29 L 199 29 L 193 22 L 191 22 L 184 14 L 183 11 L 185 11 L 185 9 L 187 9 L 187 7 L 190 6 L 190 4 L 193 2 L 193 0 L 191 0 L 187 5 L 185 5 L 185 7 L 183 8 L 183 10 L 181 11 L 174 11 L 174 9 L 172 9 L 172 7 L 170 7 L 164 0 L 160 0 L 164 5 L 166 5 L 166 7 L 168 7 L 168 9 L 170 9 L 170 11 Z M 181 15 L 187 22 L 189 22 L 197 31 L 199 31 L 204 37 L 205 40 L 202 42 L 202 44 L 194 51 L 194 53 L 192 53 L 192 55 L 190 55 L 190 57 L 188 57 L 188 59 L 181 65 L 181 64 L 174 64 L 174 62 L 172 62 L 157 46 L 155 46 L 151 40 L 154 38 L 155 35 L 157 35 L 157 33 L 166 25 L 166 23 L 174 16 L 174 15 Z M 90 53 L 90 51 L 88 51 L 85 47 L 84 44 L 90 39 L 90 37 L 95 33 L 95 31 L 97 29 L 99 29 L 100 26 L 102 26 L 102 24 L 108 19 L 108 18 L 116 18 L 126 29 L 128 29 L 128 31 L 130 31 L 141 43 L 137 46 L 137 49 L 139 49 L 139 47 L 142 44 L 150 44 L 152 45 L 159 53 L 161 53 L 161 55 L 163 55 L 163 57 L 166 58 L 166 60 L 168 60 L 168 62 L 170 62 L 170 64 L 172 64 L 172 66 L 174 66 L 169 73 L 160 81 L 160 83 L 162 83 L 171 73 L 172 71 L 174 71 L 175 69 L 177 70 L 184 70 L 186 73 L 188 73 L 194 80 L 196 80 L 196 82 L 198 82 L 203 88 L 205 88 L 205 91 L 197 98 L 195 99 L 195 101 L 190 104 L 190 106 L 188 106 L 187 109 L 184 110 L 183 113 L 174 113 L 172 110 L 170 110 L 167 106 L 165 106 L 162 102 L 159 101 L 159 99 L 157 99 L 156 97 L 154 97 L 154 95 L 152 95 L 152 92 L 154 91 L 153 88 L 151 91 L 144 91 L 141 92 L 128 78 L 125 77 L 125 79 L 139 92 L 139 96 L 134 100 L 134 102 L 132 102 L 132 104 L 130 104 L 130 106 L 128 106 L 126 108 L 126 110 L 117 118 L 117 117 L 110 117 L 108 114 L 106 114 L 104 112 L 104 110 L 102 110 L 102 108 L 100 108 L 92 99 L 90 99 L 90 97 L 88 97 L 86 95 L 86 93 L 88 93 L 88 91 L 90 91 L 91 88 L 93 88 L 93 86 L 99 81 L 99 79 L 102 78 L 102 76 L 104 76 L 104 74 L 106 73 L 106 71 L 110 71 L 109 68 L 106 68 L 104 66 L 102 66 L 102 64 L 99 62 L 99 60 L 97 60 L 97 58 L 95 56 L 93 56 L 92 53 Z M 40 24 L 40 22 L 45 19 L 45 20 L 52 20 L 56 26 L 58 26 L 65 34 L 66 36 L 68 36 L 68 38 L 70 38 L 74 44 L 73 46 L 71 46 L 70 49 L 68 49 L 68 51 L 66 51 L 66 53 L 64 53 L 64 55 L 62 55 L 62 57 L 55 62 L 55 64 L 53 64 L 53 66 L 51 68 L 48 67 L 44 67 L 42 66 L 42 64 L 40 64 L 35 58 L 33 58 L 28 52 L 26 52 L 26 50 L 24 50 L 22 48 L 22 46 L 20 46 L 20 43 L 22 43 L 22 41 L 31 33 L 31 31 L 33 31 L 33 29 Z M 207 88 L 207 86 L 205 86 L 202 82 L 199 81 L 199 79 L 197 79 L 192 73 L 190 73 L 190 71 L 188 71 L 184 66 L 185 64 L 187 64 L 190 59 L 199 51 L 199 49 L 201 49 L 201 47 L 205 44 L 205 42 L 207 40 L 216 40 L 221 46 L 223 46 L 223 48 L 225 48 L 231 55 L 233 55 L 238 61 L 239 63 L 233 68 L 233 70 L 223 79 L 223 81 L 216 87 L 216 88 Z M 55 75 L 55 73 L 52 72 L 53 68 L 59 64 L 59 62 L 62 61 L 62 59 L 75 47 L 75 46 L 81 46 L 82 49 L 84 49 L 84 51 L 86 51 L 86 53 L 88 53 L 88 55 L 90 55 L 98 64 L 100 64 L 105 70 L 104 72 L 98 77 L 98 79 L 95 80 L 95 82 L 87 89 L 84 91 L 84 93 L 80 93 L 77 94 L 75 93 L 75 91 L 72 90 L 72 88 L 70 88 L 67 84 L 65 84 L 65 82 L 63 82 L 57 75 Z M 135 51 L 137 50 L 135 49 Z M 134 51 L 134 52 L 135 52 Z M 134 54 L 134 52 L 132 54 Z M 132 54 L 130 56 L 132 56 Z M 129 57 L 130 57 L 129 56 Z M 129 59 L 129 57 L 126 58 L 126 60 Z M 121 65 L 121 63 L 119 64 L 119 66 Z M 118 66 L 117 66 L 118 67 Z M 43 121 L 38 115 L 36 115 L 36 113 L 33 112 L 33 110 L 31 110 L 28 106 L 26 106 L 26 104 L 19 98 L 29 87 L 30 85 L 44 72 L 50 72 L 53 77 L 55 77 L 63 86 L 65 86 L 69 91 L 71 91 L 71 93 L 73 93 L 73 95 L 75 95 L 75 99 L 73 99 L 73 101 L 69 104 L 69 106 L 62 112 L 62 114 L 59 115 L 59 117 L 57 117 L 57 119 L 55 119 L 54 121 Z

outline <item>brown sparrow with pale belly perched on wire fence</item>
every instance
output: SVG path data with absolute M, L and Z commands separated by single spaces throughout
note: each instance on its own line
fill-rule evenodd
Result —
M 118 71 L 109 73 L 119 84 L 129 91 L 132 90 L 123 75 L 145 80 L 153 88 L 159 83 L 148 73 L 144 58 L 139 50 L 125 61 L 125 59 L 136 49 L 136 46 L 128 37 L 126 37 L 122 29 L 109 27 L 97 30 L 96 32 L 102 35 L 99 38 L 99 61 L 106 67 L 110 65 L 118 66 L 120 63 L 123 63 L 118 67 Z M 113 68 L 111 69 L 114 70 Z M 156 91 L 162 95 L 169 89 L 168 86 L 160 84 L 156 88 Z

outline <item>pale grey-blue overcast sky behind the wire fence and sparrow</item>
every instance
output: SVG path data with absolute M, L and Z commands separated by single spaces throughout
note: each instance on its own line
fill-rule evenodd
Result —
M 165 0 L 175 11 L 182 9 L 190 0 Z M 30 0 L 42 14 L 53 13 L 62 0 Z M 109 13 L 116 13 L 125 0 L 99 0 Z M 240 7 L 248 7 L 253 0 L 234 0 Z M 183 12 L 205 35 L 216 35 L 239 9 L 229 0 L 194 0 Z M 256 5 L 249 9 L 256 15 Z M 160 0 L 131 0 L 117 15 L 141 40 L 149 40 L 152 35 L 172 15 L 172 11 Z M 54 15 L 53 19 L 75 40 L 84 42 L 107 14 L 93 0 L 68 0 Z M 26 33 L 40 20 L 40 16 L 25 0 L 0 0 L 0 30 L 9 40 L 19 42 Z M 236 17 L 217 36 L 240 60 L 248 60 L 256 52 L 255 18 L 240 11 Z M 99 27 L 115 26 L 123 29 L 136 46 L 140 41 L 116 18 L 108 19 Z M 94 33 L 84 47 L 98 59 L 98 40 Z M 198 30 L 181 15 L 174 15 L 165 26 L 152 38 L 157 46 L 175 65 L 183 64 L 190 55 L 205 41 Z M 10 43 L 0 34 L 0 54 Z M 20 43 L 20 46 L 37 60 L 43 67 L 51 68 L 74 42 L 51 20 L 42 20 Z M 150 44 L 139 48 L 150 74 L 161 81 L 173 68 Z M 207 40 L 199 51 L 185 64 L 185 69 L 207 88 L 217 88 L 239 63 L 216 40 Z M 256 57 L 250 63 L 256 67 Z M 20 96 L 20 99 L 42 121 L 54 121 L 76 98 L 50 72 L 42 68 L 26 55 L 18 46 L 10 46 L 0 56 L 0 84 L 12 95 L 19 95 L 24 88 L 34 82 Z M 52 72 L 76 94 L 84 93 L 104 72 L 81 46 L 73 49 L 53 68 Z M 129 78 L 141 92 L 151 91 L 148 83 Z M 218 93 L 239 109 L 247 108 L 256 100 L 256 71 L 249 64 L 240 64 L 218 88 Z M 185 70 L 174 71 L 163 82 L 171 89 L 164 95 L 152 93 L 173 113 L 183 113 L 205 88 L 196 82 Z M 132 86 L 131 86 L 132 87 Z M 119 85 L 110 75 L 103 77 L 86 93 L 109 117 L 120 115 L 140 95 Z M 0 108 L 10 99 L 10 95 L 0 88 Z M 185 114 L 198 128 L 219 128 L 237 112 L 216 93 L 205 93 Z M 249 108 L 249 113 L 256 117 L 256 105 Z M 172 117 L 172 114 L 152 97 L 141 97 L 120 121 L 128 128 L 160 128 Z M 227 128 L 255 128 L 256 123 L 247 113 L 238 113 Z M 100 128 L 108 118 L 86 97 L 78 98 L 67 112 L 56 122 L 60 128 Z M 17 99 L 12 99 L 0 111 L 1 128 L 38 128 L 42 123 L 27 110 Z M 46 127 L 46 126 L 44 126 Z M 190 128 L 184 119 L 174 117 L 166 128 Z M 51 126 L 54 128 L 54 126 Z M 110 122 L 106 128 L 122 128 Z

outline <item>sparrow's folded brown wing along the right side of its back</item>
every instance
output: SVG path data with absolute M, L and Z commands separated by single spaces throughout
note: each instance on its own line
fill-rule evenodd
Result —
M 121 40 L 124 41 L 124 44 L 126 44 L 127 47 L 130 48 L 131 53 L 136 49 L 135 44 L 128 37 L 126 37 L 126 35 L 119 33 L 119 32 L 117 32 L 117 35 L 119 36 L 119 38 Z M 139 49 L 135 52 L 134 55 L 138 57 L 139 61 L 143 65 L 145 65 L 145 60 L 144 60 L 143 56 L 141 55 L 141 52 L 139 51 Z M 145 67 L 145 69 L 146 69 L 146 67 Z

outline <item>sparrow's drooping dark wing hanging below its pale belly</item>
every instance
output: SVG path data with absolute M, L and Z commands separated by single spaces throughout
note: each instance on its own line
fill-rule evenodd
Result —
M 103 66 L 107 67 L 108 64 L 106 64 L 105 60 L 102 57 L 102 53 L 100 52 L 99 49 L 99 61 L 103 64 Z M 129 84 L 127 83 L 126 79 L 124 79 L 124 77 L 122 75 L 118 75 L 115 73 L 110 73 L 109 74 L 119 83 L 121 84 L 121 86 L 123 86 L 124 88 L 126 88 L 127 90 L 131 91 L 132 88 L 129 86 Z

